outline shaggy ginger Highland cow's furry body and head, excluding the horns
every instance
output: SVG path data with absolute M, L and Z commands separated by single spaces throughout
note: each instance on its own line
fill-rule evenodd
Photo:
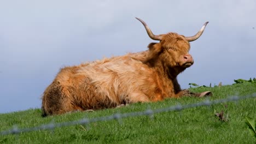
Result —
M 177 75 L 193 64 L 189 42 L 167 33 L 149 50 L 62 68 L 43 94 L 43 116 L 181 97 Z

